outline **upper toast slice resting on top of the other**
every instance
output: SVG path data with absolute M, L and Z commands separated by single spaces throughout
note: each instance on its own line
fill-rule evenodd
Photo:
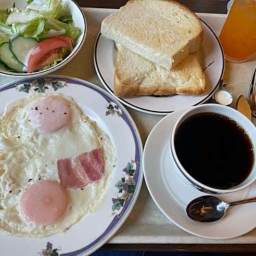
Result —
M 101 23 L 103 36 L 170 70 L 196 52 L 203 26 L 188 8 L 172 0 L 130 0 Z

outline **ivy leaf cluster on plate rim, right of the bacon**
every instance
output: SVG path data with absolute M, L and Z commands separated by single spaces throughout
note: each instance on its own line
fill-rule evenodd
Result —
M 136 182 L 133 176 L 136 171 L 136 162 L 128 162 L 127 166 L 123 169 L 125 175 L 116 183 L 116 188 L 118 189 L 117 196 L 112 198 L 112 214 L 120 214 L 125 202 L 129 200 L 136 188 Z

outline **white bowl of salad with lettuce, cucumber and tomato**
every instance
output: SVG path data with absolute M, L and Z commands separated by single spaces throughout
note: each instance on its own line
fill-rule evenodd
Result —
M 73 0 L 1 0 L 0 75 L 56 71 L 77 55 L 86 32 L 84 12 Z

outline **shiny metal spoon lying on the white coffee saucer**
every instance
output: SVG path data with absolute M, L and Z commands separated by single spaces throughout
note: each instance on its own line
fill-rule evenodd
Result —
M 256 202 L 256 197 L 232 203 L 225 203 L 217 196 L 200 196 L 192 200 L 187 206 L 187 214 L 192 220 L 198 222 L 214 222 L 225 215 L 227 208 L 233 205 Z

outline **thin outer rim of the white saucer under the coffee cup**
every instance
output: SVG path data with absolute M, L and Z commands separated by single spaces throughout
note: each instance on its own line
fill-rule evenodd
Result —
M 247 230 L 247 231 L 241 231 L 240 233 L 237 233 L 236 235 L 230 235 L 230 236 L 227 236 L 227 237 L 212 237 L 212 236 L 207 236 L 207 235 L 201 235 L 199 233 L 196 233 L 194 231 L 191 231 L 190 229 L 186 228 L 186 227 L 183 227 L 182 225 L 180 225 L 176 220 L 174 220 L 171 216 L 169 216 L 165 211 L 164 209 L 162 209 L 162 207 L 160 207 L 159 203 L 157 202 L 157 199 L 155 199 L 155 196 L 154 196 L 154 193 L 152 192 L 151 190 L 151 187 L 149 186 L 149 179 L 146 175 L 146 168 L 145 168 L 145 151 L 146 151 L 146 147 L 147 147 L 147 144 L 149 143 L 149 140 L 150 138 L 152 137 L 152 134 L 155 132 L 155 129 L 157 129 L 157 127 L 159 127 L 160 125 L 162 125 L 162 123 L 164 122 L 164 120 L 170 118 L 170 116 L 172 115 L 175 115 L 177 114 L 177 117 L 179 117 L 181 114 L 183 114 L 185 111 L 187 110 L 190 110 L 192 109 L 194 106 L 192 107 L 187 107 L 187 108 L 184 108 L 182 110 L 177 110 L 175 112 L 172 112 L 170 114 L 168 114 L 167 116 L 165 116 L 164 118 L 162 118 L 161 120 L 159 120 L 159 122 L 153 127 L 153 129 L 151 130 L 151 132 L 149 133 L 149 136 L 148 138 L 146 139 L 146 142 L 145 142 L 145 145 L 144 145 L 144 153 L 143 153 L 143 157 L 142 157 L 142 168 L 143 168 L 143 173 L 144 173 L 144 180 L 145 180 L 145 183 L 146 183 L 146 188 L 149 190 L 149 194 L 151 195 L 155 205 L 157 205 L 158 209 L 162 212 L 162 214 L 164 214 L 164 216 L 166 216 L 166 218 L 168 218 L 168 220 L 170 220 L 172 223 L 174 223 L 177 227 L 179 227 L 180 229 L 182 229 L 183 231 L 186 231 L 192 235 L 196 235 L 197 237 L 200 237 L 200 238 L 206 238 L 206 239 L 209 239 L 209 240 L 229 240 L 229 239 L 232 239 L 232 238 L 238 238 L 240 237 L 241 235 L 244 235 L 250 231 L 252 231 L 253 229 L 256 228 L 256 225 L 252 226 L 251 229 Z M 162 154 L 163 155 L 163 154 Z M 176 198 L 175 196 L 172 195 L 172 198 L 175 199 L 176 201 Z

